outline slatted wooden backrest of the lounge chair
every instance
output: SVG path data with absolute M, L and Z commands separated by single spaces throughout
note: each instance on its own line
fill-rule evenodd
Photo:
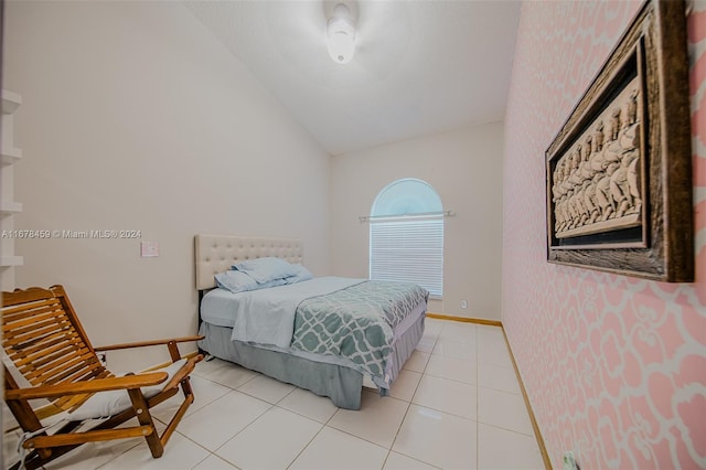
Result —
M 113 376 L 98 360 L 61 286 L 3 292 L 2 334 L 6 361 L 33 386 Z M 6 383 L 17 386 L 19 381 L 13 378 Z M 88 396 L 58 397 L 53 404 L 69 409 Z

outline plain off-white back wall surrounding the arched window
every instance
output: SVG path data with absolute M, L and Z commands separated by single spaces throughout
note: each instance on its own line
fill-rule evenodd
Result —
M 331 268 L 367 277 L 368 215 L 388 183 L 418 178 L 431 184 L 445 210 L 443 300 L 429 310 L 500 321 L 502 250 L 501 122 L 376 147 L 333 158 Z M 468 309 L 461 309 L 461 300 Z

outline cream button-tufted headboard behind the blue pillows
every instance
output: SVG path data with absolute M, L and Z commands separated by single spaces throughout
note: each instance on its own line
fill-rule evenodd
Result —
M 216 287 L 213 276 L 246 259 L 274 256 L 289 263 L 301 263 L 303 249 L 296 238 L 260 238 L 235 235 L 204 235 L 194 238 L 196 289 Z

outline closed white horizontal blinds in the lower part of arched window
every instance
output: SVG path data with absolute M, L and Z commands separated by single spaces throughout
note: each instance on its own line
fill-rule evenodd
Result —
M 370 277 L 415 282 L 440 298 L 443 215 L 371 218 Z

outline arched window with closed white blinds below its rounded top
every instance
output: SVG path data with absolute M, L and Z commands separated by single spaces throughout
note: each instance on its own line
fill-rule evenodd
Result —
M 370 222 L 370 278 L 415 282 L 440 298 L 443 206 L 434 188 L 416 179 L 388 184 L 377 194 Z

